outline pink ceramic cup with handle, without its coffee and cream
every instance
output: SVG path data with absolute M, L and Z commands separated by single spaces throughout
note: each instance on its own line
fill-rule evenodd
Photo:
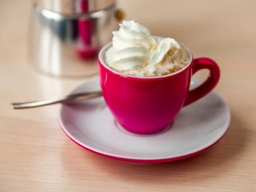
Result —
M 105 102 L 116 121 L 127 131 L 136 134 L 155 134 L 163 131 L 180 109 L 209 93 L 218 83 L 220 69 L 209 58 L 193 59 L 182 70 L 160 77 L 127 76 L 112 70 L 103 60 L 105 45 L 99 52 L 99 77 Z M 208 79 L 189 91 L 191 76 L 208 69 Z

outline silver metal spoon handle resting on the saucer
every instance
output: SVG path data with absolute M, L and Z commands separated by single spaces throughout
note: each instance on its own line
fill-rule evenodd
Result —
M 90 92 L 90 93 L 77 93 L 71 95 L 57 96 L 50 99 L 43 99 L 33 102 L 23 102 L 23 103 L 11 103 L 11 108 L 13 109 L 25 109 L 25 108 L 35 108 L 44 105 L 51 105 L 55 103 L 69 103 L 74 101 L 88 100 L 96 97 L 102 96 L 102 92 Z

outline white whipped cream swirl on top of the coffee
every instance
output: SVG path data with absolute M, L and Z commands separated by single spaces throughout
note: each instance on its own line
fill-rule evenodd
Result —
M 154 73 L 154 64 L 160 63 L 170 49 L 177 49 L 173 55 L 180 49 L 174 39 L 154 38 L 147 27 L 134 20 L 119 25 L 119 31 L 113 32 L 112 47 L 105 54 L 106 63 L 115 70 L 140 67 Z

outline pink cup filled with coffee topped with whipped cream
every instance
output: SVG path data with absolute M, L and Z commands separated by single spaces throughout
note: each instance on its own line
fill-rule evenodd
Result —
M 135 134 L 163 131 L 181 108 L 204 97 L 220 78 L 212 59 L 194 59 L 183 44 L 151 36 L 134 21 L 120 24 L 98 62 L 106 105 L 115 121 Z M 201 69 L 210 71 L 207 80 L 189 90 L 192 75 Z

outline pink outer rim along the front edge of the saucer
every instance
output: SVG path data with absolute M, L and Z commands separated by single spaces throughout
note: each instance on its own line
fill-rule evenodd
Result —
M 110 159 L 113 159 L 113 160 L 119 160 L 119 161 L 125 161 L 125 162 L 129 162 L 129 163 L 166 163 L 166 162 L 171 162 L 171 161 L 176 161 L 176 160 L 182 160 L 182 159 L 186 159 L 188 157 L 192 157 L 192 156 L 195 156 L 197 154 L 200 154 L 201 152 L 203 151 L 206 151 L 207 149 L 211 148 L 212 146 L 214 146 L 215 144 L 217 144 L 224 136 L 225 134 L 227 133 L 227 131 L 229 130 L 229 127 L 230 127 L 230 124 L 227 128 L 227 130 L 224 132 L 224 134 L 217 140 L 215 141 L 214 143 L 212 143 L 211 145 L 207 146 L 206 148 L 203 148 L 199 151 L 196 151 L 196 152 L 193 152 L 193 153 L 190 153 L 190 154 L 186 154 L 186 155 L 181 155 L 181 156 L 178 156 L 178 157 L 172 157 L 172 158 L 166 158 L 166 159 L 130 159 L 130 158 L 124 158 L 124 157 L 116 157 L 116 156 L 113 156 L 113 155 L 108 155 L 108 154 L 104 154 L 104 153 L 100 153 L 98 151 L 95 151 L 91 148 L 88 148 L 84 145 L 81 145 L 80 143 L 78 143 L 76 140 L 74 140 L 68 133 L 68 131 L 65 130 L 65 128 L 61 125 L 61 121 L 60 119 L 58 118 L 58 122 L 61 126 L 61 129 L 62 131 L 67 135 L 67 137 L 70 138 L 70 140 L 72 140 L 74 143 L 76 143 L 77 145 L 79 145 L 81 148 L 84 148 L 86 149 L 87 151 L 90 151 L 94 154 L 97 154 L 97 155 L 100 155 L 102 157 L 107 157 L 107 158 L 110 158 Z

